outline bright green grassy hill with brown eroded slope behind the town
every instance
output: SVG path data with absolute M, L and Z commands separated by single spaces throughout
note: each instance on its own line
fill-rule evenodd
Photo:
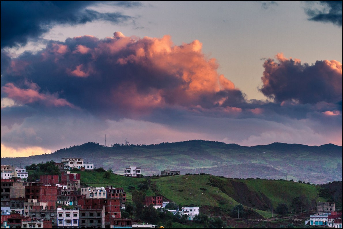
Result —
M 183 206 L 200 206 L 210 214 L 227 214 L 238 204 L 250 208 L 260 217 L 271 217 L 271 207 L 276 209 L 278 204 L 287 204 L 291 211 L 292 202 L 299 197 L 304 211 L 313 210 L 317 201 L 326 201 L 319 197 L 319 185 L 303 184 L 284 180 L 264 179 L 228 179 L 213 175 L 179 175 L 146 178 L 131 178 L 111 174 L 104 178 L 104 172 L 79 171 L 81 184 L 89 186 L 123 187 L 127 193 L 127 201 L 131 202 L 131 191 L 128 186 L 142 182 L 150 184 L 145 191 L 147 196 L 162 195 Z M 342 182 L 336 189 L 342 192 Z M 299 204 L 299 202 L 298 202 Z M 275 215 L 275 212 L 274 212 Z

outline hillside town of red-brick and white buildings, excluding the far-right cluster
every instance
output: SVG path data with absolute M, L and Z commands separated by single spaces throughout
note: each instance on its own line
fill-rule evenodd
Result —
M 135 224 L 121 217 L 126 208 L 123 187 L 83 187 L 79 173 L 73 169 L 94 170 L 94 165 L 82 158 L 62 158 L 55 166 L 58 175 L 40 175 L 28 182 L 24 168 L 1 165 L 1 228 L 155 228 L 156 225 Z M 125 176 L 140 177 L 139 168 L 130 166 Z M 161 173 L 170 173 L 164 170 Z M 171 171 L 180 174 L 180 171 Z M 165 207 L 162 196 L 146 196 L 143 206 Z M 174 215 L 186 215 L 188 220 L 199 215 L 199 207 L 169 210 Z

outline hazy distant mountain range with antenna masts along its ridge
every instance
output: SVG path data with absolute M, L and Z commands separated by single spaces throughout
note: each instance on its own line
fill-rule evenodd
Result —
M 51 154 L 1 158 L 1 164 L 25 166 L 63 157 L 81 157 L 96 168 L 112 168 L 123 174 L 130 165 L 143 175 L 164 169 L 185 173 L 209 173 L 229 178 L 266 178 L 323 184 L 342 181 L 342 146 L 307 146 L 275 142 L 265 146 L 239 146 L 223 142 L 191 140 L 157 145 L 104 147 L 94 142 L 60 149 Z

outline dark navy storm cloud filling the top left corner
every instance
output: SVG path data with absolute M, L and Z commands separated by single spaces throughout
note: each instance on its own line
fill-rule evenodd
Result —
M 130 16 L 86 9 L 96 1 L 1 1 L 1 48 L 37 40 L 54 25 L 77 25 L 95 20 L 126 22 Z M 119 7 L 137 7 L 137 2 L 110 2 Z

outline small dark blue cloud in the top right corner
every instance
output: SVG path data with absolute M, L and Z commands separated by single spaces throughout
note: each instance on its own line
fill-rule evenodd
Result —
M 342 1 L 309 1 L 307 4 L 305 12 L 310 17 L 308 20 L 342 26 Z

